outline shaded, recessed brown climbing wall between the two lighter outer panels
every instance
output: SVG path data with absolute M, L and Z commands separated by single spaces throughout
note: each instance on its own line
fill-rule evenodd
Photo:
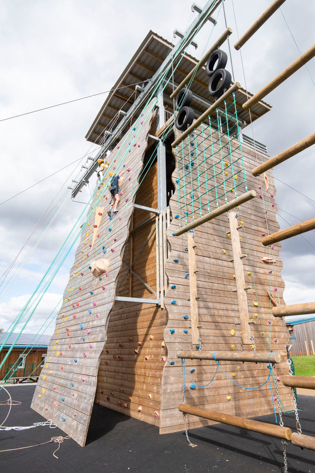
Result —
M 157 164 L 149 169 L 140 184 L 135 202 L 157 209 Z M 142 226 L 144 222 L 147 223 Z M 155 214 L 135 208 L 117 295 L 156 298 L 157 256 Z M 159 425 L 166 322 L 166 311 L 156 304 L 115 302 L 99 366 L 98 403 Z

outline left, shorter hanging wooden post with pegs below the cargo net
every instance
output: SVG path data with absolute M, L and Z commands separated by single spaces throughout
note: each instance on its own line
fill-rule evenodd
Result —
M 199 319 L 197 302 L 197 278 L 196 278 L 196 258 L 195 244 L 191 233 L 187 233 L 188 239 L 188 260 L 189 260 L 189 293 L 190 293 L 190 317 L 191 317 L 191 338 L 192 344 L 199 344 Z

